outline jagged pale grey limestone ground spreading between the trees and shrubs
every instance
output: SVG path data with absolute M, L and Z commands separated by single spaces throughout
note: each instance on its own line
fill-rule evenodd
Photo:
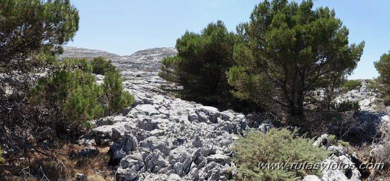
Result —
M 94 51 L 73 53 L 78 49 L 65 48 L 65 55 L 93 57 Z M 84 54 L 87 52 L 87 54 Z M 97 52 L 96 56 L 101 56 Z M 106 53 L 104 53 L 106 54 Z M 227 181 L 236 174 L 231 162 L 232 143 L 243 130 L 253 125 L 266 132 L 273 127 L 268 120 L 250 120 L 233 110 L 220 111 L 195 102 L 165 96 L 159 86 L 166 83 L 157 76 L 164 56 L 176 54 L 175 48 L 155 48 L 130 56 L 111 56 L 114 65 L 123 70 L 124 88 L 134 93 L 134 104 L 122 115 L 95 121 L 96 127 L 82 136 L 79 144 L 84 152 L 95 146 L 110 146 L 110 164 L 114 165 L 118 181 Z M 106 54 L 107 55 L 107 54 Z M 104 55 L 105 56 L 105 55 Z M 98 82 L 103 76 L 97 75 Z M 358 100 L 367 121 L 382 127 L 390 123 L 386 112 L 375 110 L 374 95 L 364 84 L 344 99 Z M 372 97 L 373 96 L 373 97 Z M 356 155 L 347 154 L 341 145 L 330 145 L 328 135 L 322 135 L 314 145 L 333 150 L 324 163 L 356 162 Z M 88 151 L 89 150 L 89 151 Z M 360 181 L 357 169 L 324 169 L 321 178 L 306 176 L 305 181 Z

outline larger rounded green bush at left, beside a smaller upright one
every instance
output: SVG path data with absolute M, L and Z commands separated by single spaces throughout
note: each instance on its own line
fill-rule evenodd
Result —
M 103 116 L 104 108 L 97 100 L 103 91 L 96 84 L 95 76 L 87 72 L 90 64 L 81 66 L 85 62 L 88 63 L 85 59 L 64 59 L 38 79 L 37 86 L 31 90 L 30 101 L 59 108 L 58 113 L 82 125 L 87 125 L 86 120 Z

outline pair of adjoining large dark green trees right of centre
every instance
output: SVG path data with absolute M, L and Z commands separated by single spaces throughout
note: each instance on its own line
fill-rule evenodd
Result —
M 178 54 L 163 59 L 159 76 L 183 88 L 179 95 L 187 100 L 226 109 L 246 100 L 304 119 L 309 106 L 326 102 L 309 94 L 328 89 L 334 95 L 365 44 L 349 43 L 335 12 L 313 5 L 265 0 L 236 34 L 222 21 L 201 34 L 187 31 L 176 41 Z

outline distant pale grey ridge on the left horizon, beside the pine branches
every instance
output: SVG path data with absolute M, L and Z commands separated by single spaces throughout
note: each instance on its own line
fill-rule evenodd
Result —
M 102 56 L 104 58 L 120 57 L 118 54 L 111 54 L 101 50 L 91 50 L 78 47 L 63 47 L 63 54 L 60 57 L 78 57 L 78 58 L 93 58 Z

